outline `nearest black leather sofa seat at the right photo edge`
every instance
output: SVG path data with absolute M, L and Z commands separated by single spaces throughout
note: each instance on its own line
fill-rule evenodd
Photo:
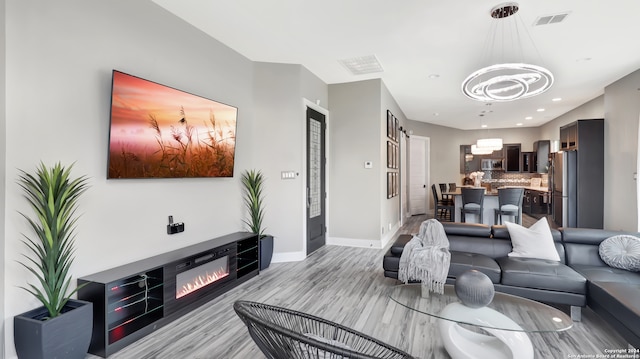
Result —
M 640 336 L 640 284 L 589 282 L 588 303 L 596 302 Z

